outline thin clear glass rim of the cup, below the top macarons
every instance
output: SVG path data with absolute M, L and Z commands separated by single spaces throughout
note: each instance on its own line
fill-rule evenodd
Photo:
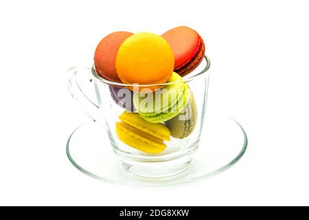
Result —
M 183 80 L 179 80 L 179 81 L 172 82 L 172 83 L 143 84 L 143 85 L 141 85 L 141 84 L 124 84 L 124 83 L 113 82 L 113 81 L 107 80 L 106 78 L 100 77 L 97 74 L 97 72 L 95 71 L 94 65 L 92 65 L 92 67 L 91 67 L 91 72 L 92 72 L 93 76 L 97 80 L 100 80 L 102 83 L 106 83 L 108 85 L 114 85 L 114 86 L 117 86 L 117 87 L 165 87 L 167 85 L 172 85 L 172 84 L 175 84 L 175 83 L 187 83 L 187 82 L 190 82 L 190 81 L 192 81 L 196 78 L 199 78 L 200 76 L 203 76 L 204 74 L 206 74 L 207 70 L 210 67 L 210 60 L 207 56 L 204 56 L 204 58 L 205 58 L 205 61 L 206 61 L 206 65 L 200 72 L 197 72 L 196 74 L 192 74 L 192 76 L 190 76 L 191 74 L 188 74 L 187 75 L 188 77 L 184 76 Z

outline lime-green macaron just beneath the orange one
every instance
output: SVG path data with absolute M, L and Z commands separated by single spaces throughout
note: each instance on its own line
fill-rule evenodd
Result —
M 187 105 L 188 86 L 173 72 L 170 85 L 154 93 L 133 94 L 133 104 L 141 118 L 152 123 L 165 122 L 181 113 Z

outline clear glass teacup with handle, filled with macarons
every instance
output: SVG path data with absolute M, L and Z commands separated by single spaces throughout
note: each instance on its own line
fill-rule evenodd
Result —
M 157 85 L 115 83 L 101 78 L 94 67 L 72 67 L 69 69 L 68 87 L 73 99 L 78 101 L 89 118 L 106 128 L 113 151 L 119 156 L 124 171 L 128 175 L 138 179 L 164 181 L 185 175 L 187 170 L 190 170 L 203 130 L 209 67 L 210 61 L 205 56 L 201 65 L 194 72 L 184 76 L 182 80 Z M 98 104 L 91 101 L 91 98 L 82 91 L 81 82 L 78 80 L 80 75 L 90 78 L 89 81 L 95 90 L 95 102 Z M 183 94 L 181 98 L 177 98 L 179 91 L 172 92 L 174 88 L 185 88 L 181 90 Z M 165 94 L 168 91 L 168 95 L 162 95 L 164 91 Z M 165 101 L 156 99 L 162 97 L 166 97 Z M 147 102 L 147 100 L 153 100 L 153 102 Z M 173 100 L 176 101 L 173 102 Z M 179 102 L 181 104 L 176 104 Z M 161 104 L 161 107 L 158 107 L 158 104 Z M 141 111 L 143 109 L 141 105 L 144 107 L 143 111 Z M 169 107 L 165 108 L 165 105 Z M 164 112 L 159 112 L 163 109 Z M 141 151 L 119 138 L 117 124 L 122 123 L 119 116 L 124 112 L 128 115 L 134 114 L 135 117 L 140 116 L 142 122 L 145 120 L 145 126 L 148 123 L 163 124 L 170 130 L 169 140 L 163 141 L 165 148 L 162 152 Z M 161 114 L 168 116 L 164 118 Z M 159 116 L 152 117 L 153 115 L 160 115 L 163 119 Z M 102 147 L 109 147 L 108 145 L 110 144 L 106 143 Z

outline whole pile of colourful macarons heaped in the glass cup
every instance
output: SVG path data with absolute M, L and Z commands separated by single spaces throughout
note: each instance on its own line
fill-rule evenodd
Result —
M 149 32 L 105 36 L 95 50 L 94 69 L 111 82 L 111 97 L 126 109 L 115 126 L 119 140 L 139 151 L 161 153 L 170 136 L 183 139 L 192 134 L 197 107 L 182 77 L 204 56 L 203 39 L 185 26 L 161 36 Z

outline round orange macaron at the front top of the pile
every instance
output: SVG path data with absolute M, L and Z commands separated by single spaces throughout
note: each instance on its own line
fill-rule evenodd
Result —
M 119 47 L 116 69 L 125 84 L 166 83 L 174 69 L 174 54 L 170 44 L 157 34 L 133 34 Z

